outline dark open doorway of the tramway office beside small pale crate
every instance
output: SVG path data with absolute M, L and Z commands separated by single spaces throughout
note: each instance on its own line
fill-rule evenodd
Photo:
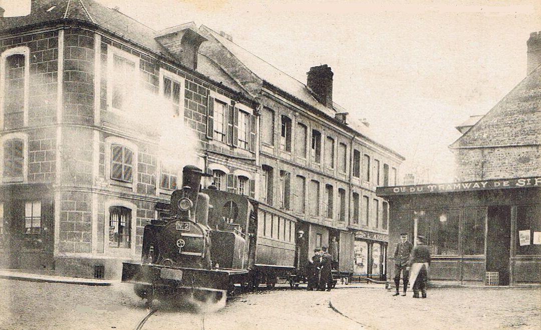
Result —
M 511 206 L 489 206 L 486 235 L 486 271 L 499 273 L 498 285 L 509 285 Z

